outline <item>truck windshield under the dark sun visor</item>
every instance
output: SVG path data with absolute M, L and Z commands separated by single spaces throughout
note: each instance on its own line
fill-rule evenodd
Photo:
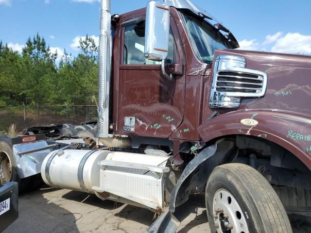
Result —
M 180 12 L 192 48 L 196 56 L 204 63 L 211 64 L 214 51 L 231 49 L 223 34 L 208 24 L 204 19 L 199 20 L 184 12 Z

